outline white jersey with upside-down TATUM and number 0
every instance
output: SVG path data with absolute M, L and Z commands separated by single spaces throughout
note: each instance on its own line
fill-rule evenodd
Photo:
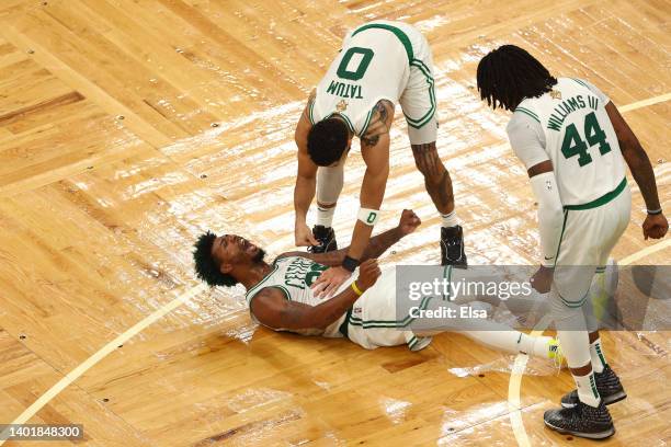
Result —
M 338 113 L 354 135 L 364 135 L 375 104 L 387 100 L 396 105 L 408 84 L 411 44 L 407 34 L 413 32 L 406 23 L 390 21 L 366 23 L 351 32 L 317 85 L 310 122 Z

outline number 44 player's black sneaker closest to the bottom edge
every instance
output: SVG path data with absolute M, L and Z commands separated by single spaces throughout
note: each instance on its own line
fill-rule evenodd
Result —
M 543 415 L 545 425 L 565 435 L 604 439 L 615 434 L 615 426 L 603 401 L 599 406 L 578 402 L 570 409 L 548 410 Z

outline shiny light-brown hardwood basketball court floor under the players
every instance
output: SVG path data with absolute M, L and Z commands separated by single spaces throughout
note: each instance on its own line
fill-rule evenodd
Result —
M 346 30 L 374 19 L 413 23 L 432 45 L 437 145 L 471 264 L 537 259 L 508 117 L 475 88 L 479 58 L 504 43 L 622 107 L 669 208 L 670 18 L 659 0 L 3 0 L 0 423 L 81 423 L 91 446 L 591 444 L 544 428 L 572 387 L 548 363 L 530 362 L 520 383 L 514 356 L 459 335 L 412 353 L 273 333 L 251 322 L 241 289 L 198 284 L 191 248 L 212 229 L 271 257 L 293 249 L 295 122 Z M 382 262 L 435 264 L 440 222 L 400 113 L 391 137 L 379 228 L 402 208 L 423 225 Z M 633 192 L 614 256 L 669 264 L 668 238 L 644 241 Z M 604 340 L 629 398 L 601 445 L 667 445 L 669 333 Z

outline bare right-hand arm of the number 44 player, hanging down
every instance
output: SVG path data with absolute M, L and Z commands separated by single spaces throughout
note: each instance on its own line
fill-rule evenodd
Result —
M 606 104 L 606 112 L 617 135 L 622 156 L 627 162 L 648 208 L 648 216 L 642 225 L 644 237 L 646 239 L 663 238 L 669 230 L 669 222 L 661 210 L 655 171 L 652 170 L 650 159 L 627 122 L 624 121 L 617 107 L 615 107 L 615 104 L 609 102 Z

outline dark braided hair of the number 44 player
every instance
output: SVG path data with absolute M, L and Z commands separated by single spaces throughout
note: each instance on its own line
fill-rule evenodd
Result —
M 492 108 L 513 111 L 525 98 L 549 92 L 557 79 L 525 49 L 503 45 L 478 64 L 478 91 Z M 498 103 L 498 104 L 497 104 Z

